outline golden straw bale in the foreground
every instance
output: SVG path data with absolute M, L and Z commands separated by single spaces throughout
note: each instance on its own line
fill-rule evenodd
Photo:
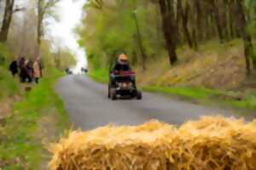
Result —
M 138 127 L 72 132 L 49 147 L 51 170 L 256 169 L 256 122 L 202 117 L 181 127 L 152 121 Z

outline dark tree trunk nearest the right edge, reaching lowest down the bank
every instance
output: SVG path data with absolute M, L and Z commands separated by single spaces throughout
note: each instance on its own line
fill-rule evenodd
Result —
M 245 15 L 242 1 L 235 0 L 235 2 L 236 2 L 235 14 L 237 15 L 236 27 L 240 31 L 241 38 L 244 43 L 244 54 L 245 54 L 245 60 L 247 65 L 247 76 L 250 76 L 251 74 L 250 58 L 253 55 L 252 37 L 250 37 L 250 35 L 246 31 L 247 20 L 246 20 L 246 15 Z M 253 61 L 253 65 L 256 68 L 256 60 Z

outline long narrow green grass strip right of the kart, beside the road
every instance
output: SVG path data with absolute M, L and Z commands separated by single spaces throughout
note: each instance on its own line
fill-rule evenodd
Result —
M 222 106 L 231 106 L 233 108 L 247 109 L 256 111 L 256 95 L 245 94 L 245 99 L 222 99 L 221 96 L 236 96 L 239 93 L 221 91 L 218 89 L 207 88 L 191 88 L 191 87 L 144 87 L 144 91 L 160 94 L 172 94 L 175 96 L 183 97 L 197 101 L 201 104 L 213 104 Z

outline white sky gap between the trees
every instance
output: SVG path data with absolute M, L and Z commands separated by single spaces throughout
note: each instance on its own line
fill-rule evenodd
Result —
M 79 48 L 78 37 L 74 29 L 80 24 L 83 14 L 82 8 L 86 0 L 62 0 L 56 7 L 59 20 L 49 25 L 49 34 L 55 38 L 55 43 L 59 47 L 70 48 L 78 61 L 75 71 L 79 71 L 87 65 L 85 52 Z

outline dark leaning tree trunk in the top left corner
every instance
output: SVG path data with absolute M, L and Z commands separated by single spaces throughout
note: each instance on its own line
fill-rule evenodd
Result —
M 8 39 L 9 26 L 11 24 L 15 0 L 6 0 L 3 14 L 3 25 L 0 31 L 0 42 L 6 42 Z

